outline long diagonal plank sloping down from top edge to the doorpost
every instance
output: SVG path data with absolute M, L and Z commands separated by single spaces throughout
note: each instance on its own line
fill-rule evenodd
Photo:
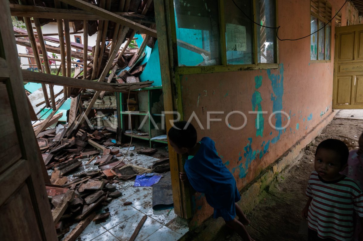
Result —
M 69 5 L 72 5 L 76 8 L 83 9 L 87 12 L 94 13 L 96 15 L 105 17 L 107 20 L 111 20 L 115 23 L 119 23 L 123 26 L 127 26 L 129 28 L 138 30 L 140 33 L 148 34 L 152 37 L 156 36 L 156 30 L 148 28 L 144 25 L 135 23 L 134 21 L 128 20 L 125 17 L 118 16 L 112 12 L 106 11 L 105 9 L 99 8 L 97 6 L 94 6 L 90 3 L 84 2 L 82 0 L 60 0 L 64 3 L 68 3 Z

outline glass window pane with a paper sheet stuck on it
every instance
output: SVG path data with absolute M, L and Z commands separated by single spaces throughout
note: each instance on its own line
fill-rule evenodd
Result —
M 252 1 L 235 1 L 250 19 L 253 19 Z M 226 23 L 227 64 L 253 64 L 253 23 L 234 5 L 224 1 Z

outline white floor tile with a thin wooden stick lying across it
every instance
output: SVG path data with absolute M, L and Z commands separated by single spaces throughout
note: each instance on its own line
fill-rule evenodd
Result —
M 127 241 L 130 239 L 132 233 L 134 233 L 136 226 L 139 224 L 139 222 L 143 216 L 144 216 L 143 213 L 138 212 L 134 216 L 123 221 L 121 224 L 118 224 L 114 228 L 110 229 L 109 232 L 112 233 L 119 240 Z M 163 226 L 163 225 L 160 224 L 159 222 L 155 221 L 154 219 L 152 219 L 150 217 L 147 217 L 142 228 L 140 229 L 140 232 L 136 236 L 135 241 L 144 240 L 145 238 L 150 236 L 152 233 L 154 233 L 156 230 L 161 228 L 161 226 Z

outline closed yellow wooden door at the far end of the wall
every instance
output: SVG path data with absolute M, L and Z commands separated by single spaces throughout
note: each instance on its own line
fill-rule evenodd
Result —
M 335 28 L 333 109 L 363 109 L 363 24 Z

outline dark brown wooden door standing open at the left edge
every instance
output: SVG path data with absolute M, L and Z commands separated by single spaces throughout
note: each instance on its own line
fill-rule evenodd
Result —
M 57 240 L 26 108 L 9 1 L 0 0 L 0 240 Z

